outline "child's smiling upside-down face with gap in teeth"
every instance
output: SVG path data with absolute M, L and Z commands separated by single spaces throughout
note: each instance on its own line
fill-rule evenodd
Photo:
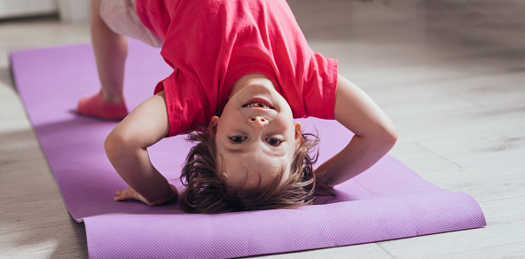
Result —
M 255 80 L 228 100 L 216 124 L 217 165 L 229 184 L 255 187 L 289 175 L 294 152 L 302 143 L 301 124 L 270 80 Z M 261 179 L 259 178 L 261 177 Z

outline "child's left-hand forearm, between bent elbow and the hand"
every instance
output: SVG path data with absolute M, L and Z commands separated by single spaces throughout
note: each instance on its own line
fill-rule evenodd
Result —
M 108 137 L 106 153 L 122 179 L 149 203 L 164 203 L 173 197 L 171 186 L 153 167 L 145 148 L 130 146 Z

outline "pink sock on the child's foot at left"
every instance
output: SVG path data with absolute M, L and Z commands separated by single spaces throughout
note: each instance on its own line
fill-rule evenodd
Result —
M 76 113 L 107 121 L 121 121 L 128 115 L 128 109 L 123 102 L 106 103 L 98 92 L 94 96 L 81 98 Z

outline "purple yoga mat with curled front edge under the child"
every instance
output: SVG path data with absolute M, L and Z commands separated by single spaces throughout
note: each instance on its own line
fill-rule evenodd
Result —
M 16 51 L 11 62 L 20 97 L 67 209 L 85 223 L 91 258 L 262 255 L 486 225 L 471 196 L 428 183 L 390 155 L 336 186 L 337 197 L 298 209 L 187 215 L 176 203 L 151 208 L 136 201 L 115 202 L 114 191 L 127 187 L 103 147 L 115 123 L 73 113 L 82 95 L 98 90 L 90 44 Z M 150 97 L 155 84 L 169 73 L 159 50 L 131 41 L 125 79 L 129 107 Z M 351 137 L 336 122 L 301 122 L 319 132 L 319 164 Z M 179 136 L 150 148 L 153 164 L 179 189 L 177 177 L 189 147 Z

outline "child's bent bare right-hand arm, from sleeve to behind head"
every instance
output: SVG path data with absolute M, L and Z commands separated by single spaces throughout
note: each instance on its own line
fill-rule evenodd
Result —
M 317 181 L 329 186 L 356 177 L 379 161 L 397 140 L 396 126 L 363 90 L 339 75 L 335 120 L 355 136 L 340 153 L 316 169 Z

